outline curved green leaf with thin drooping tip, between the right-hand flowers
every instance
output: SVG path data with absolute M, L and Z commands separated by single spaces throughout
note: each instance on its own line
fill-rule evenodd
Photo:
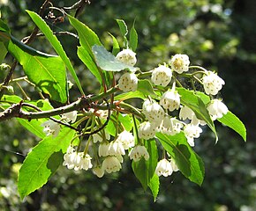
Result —
M 191 108 L 198 119 L 207 122 L 208 127 L 210 127 L 210 129 L 215 133 L 217 142 L 218 136 L 215 130 L 215 124 L 207 111 L 206 104 L 203 102 L 200 96 L 196 95 L 194 91 L 189 91 L 184 88 L 177 88 L 177 92 L 180 95 L 181 104 Z

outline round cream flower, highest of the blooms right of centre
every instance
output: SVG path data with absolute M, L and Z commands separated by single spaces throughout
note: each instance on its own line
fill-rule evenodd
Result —
M 188 55 L 174 55 L 170 60 L 171 69 L 178 74 L 188 71 L 190 64 Z

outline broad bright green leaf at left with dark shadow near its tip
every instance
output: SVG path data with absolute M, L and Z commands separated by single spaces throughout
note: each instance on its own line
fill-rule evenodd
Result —
M 60 57 L 30 55 L 11 41 L 8 50 L 23 66 L 29 81 L 51 99 L 61 103 L 67 101 L 65 66 Z

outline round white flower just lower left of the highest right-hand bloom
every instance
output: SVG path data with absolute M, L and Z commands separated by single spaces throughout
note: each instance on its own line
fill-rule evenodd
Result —
M 153 70 L 151 80 L 155 85 L 162 85 L 165 87 L 169 84 L 171 76 L 171 69 L 166 67 L 166 65 L 160 65 Z

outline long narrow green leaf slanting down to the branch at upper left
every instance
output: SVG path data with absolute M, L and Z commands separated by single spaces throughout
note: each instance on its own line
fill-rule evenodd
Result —
M 58 55 L 60 55 L 60 57 L 62 58 L 63 62 L 65 63 L 67 69 L 69 69 L 69 71 L 72 74 L 72 77 L 74 78 L 75 83 L 77 84 L 77 86 L 79 87 L 79 91 L 84 94 L 84 91 L 82 89 L 82 86 L 79 82 L 79 78 L 75 72 L 75 69 L 73 69 L 72 67 L 72 62 L 70 61 L 70 59 L 67 57 L 66 53 L 64 52 L 64 48 L 62 47 L 61 43 L 59 42 L 59 40 L 57 40 L 56 35 L 54 35 L 52 33 L 52 31 L 49 28 L 49 25 L 47 25 L 45 23 L 45 21 L 43 19 L 41 19 L 41 17 L 36 14 L 34 11 L 26 11 L 28 13 L 28 15 L 30 16 L 30 18 L 33 19 L 35 25 L 37 25 L 41 32 L 45 35 L 45 37 L 49 40 L 50 44 L 52 45 L 52 47 L 54 47 L 54 49 L 56 50 L 56 53 Z

